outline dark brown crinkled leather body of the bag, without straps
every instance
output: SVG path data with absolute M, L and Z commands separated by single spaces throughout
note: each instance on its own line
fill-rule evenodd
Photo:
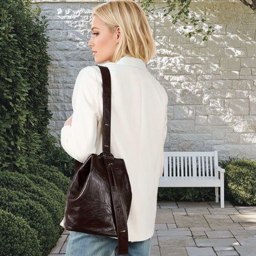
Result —
M 76 171 L 66 199 L 64 225 L 66 230 L 118 237 L 111 204 L 111 182 L 116 183 L 124 207 L 129 216 L 132 192 L 124 159 L 113 158 L 113 166 L 106 166 L 106 154 L 90 154 Z

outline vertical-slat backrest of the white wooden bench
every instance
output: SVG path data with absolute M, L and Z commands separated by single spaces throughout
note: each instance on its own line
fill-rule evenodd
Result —
M 163 177 L 218 177 L 218 152 L 164 152 Z

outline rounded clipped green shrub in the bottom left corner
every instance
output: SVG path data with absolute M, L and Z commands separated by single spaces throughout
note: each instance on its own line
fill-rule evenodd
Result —
M 23 218 L 0 209 L 0 256 L 41 256 L 39 240 Z

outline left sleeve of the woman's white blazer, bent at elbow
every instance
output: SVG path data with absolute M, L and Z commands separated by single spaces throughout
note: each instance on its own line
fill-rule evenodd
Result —
M 100 122 L 99 90 L 100 79 L 95 66 L 83 68 L 74 84 L 71 126 L 61 130 L 61 144 L 66 153 L 79 162 L 95 153 L 97 125 Z

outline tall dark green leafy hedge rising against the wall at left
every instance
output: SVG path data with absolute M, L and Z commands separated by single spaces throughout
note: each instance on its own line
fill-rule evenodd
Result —
M 0 170 L 26 169 L 48 134 L 47 23 L 30 5 L 0 1 Z

